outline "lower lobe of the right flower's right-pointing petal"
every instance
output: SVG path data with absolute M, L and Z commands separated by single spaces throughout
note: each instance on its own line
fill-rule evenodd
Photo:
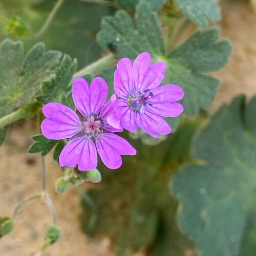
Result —
M 146 111 L 164 117 L 176 117 L 183 112 L 183 105 L 180 103 L 154 103 L 146 106 Z

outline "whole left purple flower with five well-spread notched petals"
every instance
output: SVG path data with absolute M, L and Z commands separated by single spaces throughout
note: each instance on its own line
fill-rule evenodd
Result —
M 122 164 L 121 155 L 135 155 L 136 150 L 123 138 L 113 132 L 120 132 L 118 120 L 111 118 L 114 127 L 106 118 L 113 114 L 111 101 L 106 104 L 108 86 L 96 77 L 89 87 L 86 80 L 77 78 L 72 87 L 73 100 L 79 116 L 65 105 L 51 102 L 42 108 L 47 117 L 41 123 L 41 131 L 49 139 L 71 138 L 59 156 L 60 166 L 79 170 L 93 170 L 97 167 L 97 152 L 103 163 L 117 169 Z M 118 127 L 119 126 L 119 127 Z

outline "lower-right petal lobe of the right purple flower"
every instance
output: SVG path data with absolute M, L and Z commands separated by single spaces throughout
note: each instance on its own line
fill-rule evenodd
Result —
M 136 113 L 136 122 L 138 126 L 146 133 L 157 138 L 157 134 L 166 135 L 171 132 L 170 126 L 160 116 L 147 113 Z

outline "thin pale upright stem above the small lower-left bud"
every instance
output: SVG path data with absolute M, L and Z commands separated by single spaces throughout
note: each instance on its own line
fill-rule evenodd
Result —
M 42 190 L 44 192 L 44 199 L 46 204 L 48 205 L 48 208 L 50 209 L 53 217 L 53 223 L 55 226 L 58 225 L 58 218 L 57 218 L 57 213 L 55 210 L 55 207 L 52 203 L 51 198 L 48 195 L 47 191 L 47 168 L 46 168 L 46 160 L 45 157 L 41 156 L 42 159 Z

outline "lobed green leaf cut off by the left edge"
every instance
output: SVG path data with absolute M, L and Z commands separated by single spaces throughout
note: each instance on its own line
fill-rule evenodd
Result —
M 44 44 L 35 45 L 24 59 L 23 44 L 6 39 L 0 45 L 0 113 L 11 113 L 30 103 L 41 84 L 55 75 L 61 53 L 45 52 Z M 0 116 L 0 117 L 1 117 Z

